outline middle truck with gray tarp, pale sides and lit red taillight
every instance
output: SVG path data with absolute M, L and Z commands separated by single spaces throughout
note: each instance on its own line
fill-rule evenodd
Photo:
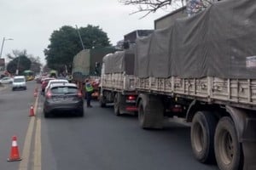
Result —
M 103 58 L 99 101 L 102 107 L 112 103 L 116 116 L 137 113 L 133 65 L 132 49 L 107 54 Z

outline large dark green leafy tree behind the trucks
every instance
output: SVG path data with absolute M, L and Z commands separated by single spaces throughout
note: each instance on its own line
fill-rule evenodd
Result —
M 85 48 L 102 48 L 110 46 L 107 33 L 99 26 L 80 27 L 78 30 L 72 26 L 62 26 L 60 30 L 53 31 L 50 44 L 44 49 L 47 65 L 56 71 L 65 71 L 67 65 L 73 65 L 73 57 L 83 49 L 79 34 Z

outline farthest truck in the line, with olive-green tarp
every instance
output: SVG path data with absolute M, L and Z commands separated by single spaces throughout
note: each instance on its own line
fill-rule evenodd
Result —
M 84 49 L 74 56 L 72 69 L 73 82 L 78 85 L 81 92 L 83 92 L 84 97 L 86 96 L 84 91 L 84 81 L 86 78 L 89 78 L 94 88 L 92 98 L 98 99 L 102 58 L 106 54 L 115 51 L 116 49 L 111 47 Z

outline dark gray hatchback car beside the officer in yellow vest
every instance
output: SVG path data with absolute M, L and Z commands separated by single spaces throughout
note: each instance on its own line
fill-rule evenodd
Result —
M 44 117 L 54 112 L 84 116 L 84 99 L 76 84 L 55 83 L 49 88 L 45 94 Z

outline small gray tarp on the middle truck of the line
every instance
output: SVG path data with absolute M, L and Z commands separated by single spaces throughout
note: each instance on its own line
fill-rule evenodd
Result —
M 107 54 L 103 58 L 103 63 L 105 63 L 105 73 L 125 72 L 127 75 L 133 75 L 134 49 Z

